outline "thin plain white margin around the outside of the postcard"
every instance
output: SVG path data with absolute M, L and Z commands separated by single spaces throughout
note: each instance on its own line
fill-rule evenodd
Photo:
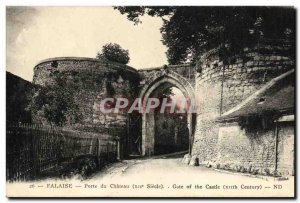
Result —
M 2 166 L 2 170 L 0 172 L 0 200 L 2 201 L 8 201 L 8 199 L 5 197 L 5 70 L 6 70 L 6 23 L 5 23 L 5 8 L 6 6 L 111 6 L 111 5 L 198 5 L 198 6 L 220 6 L 220 5 L 236 5 L 236 6 L 294 6 L 296 9 L 299 8 L 299 0 L 272 0 L 272 1 L 261 1 L 261 0 L 251 0 L 251 1 L 241 1 L 241 0 L 227 0 L 227 1 L 212 1 L 212 0 L 151 0 L 151 1 L 145 1 L 145 0 L 127 0 L 127 1 L 121 1 L 121 0 L 1 0 L 0 1 L 0 67 L 2 67 L 1 76 L 0 76 L 0 95 L 2 95 L 1 101 L 0 101 L 0 112 L 1 112 L 1 125 L 0 125 L 0 132 L 1 132 L 1 146 L 0 146 L 0 165 Z M 299 21 L 297 18 L 296 21 L 296 27 L 299 26 Z M 298 32 L 297 32 L 298 33 Z M 298 40 L 297 40 L 297 47 L 298 47 Z M 297 58 L 299 58 L 299 52 L 297 51 Z M 297 63 L 296 63 L 297 64 Z M 298 67 L 296 67 L 297 69 Z M 297 71 L 297 70 L 296 70 Z M 299 70 L 297 71 L 297 77 L 299 78 Z M 297 95 L 299 95 L 299 87 L 297 86 Z M 298 105 L 299 103 L 297 103 Z M 298 115 L 298 111 L 296 112 L 296 115 Z M 299 121 L 297 119 L 297 127 L 299 127 Z M 299 128 L 298 128 L 299 132 Z M 296 137 L 298 137 L 296 135 Z M 300 138 L 297 138 L 297 151 L 299 150 L 299 143 Z M 297 177 L 299 176 L 299 155 L 297 156 Z M 297 184 L 297 194 L 299 195 L 299 185 Z M 32 201 L 32 200 L 27 200 Z M 40 201 L 40 200 L 38 200 Z M 43 201 L 51 201 L 51 200 L 43 200 Z M 62 202 L 65 200 L 58 200 L 58 202 Z M 74 200 L 68 200 L 68 201 L 74 201 Z M 99 200 L 98 200 L 99 201 Z M 101 200 L 101 201 L 108 201 L 108 200 Z M 131 201 L 131 200 L 130 200 Z M 158 201 L 158 200 L 156 200 Z M 162 201 L 162 200 L 159 200 Z M 204 201 L 204 200 L 199 200 Z M 232 201 L 232 200 L 229 200 Z M 262 202 L 262 200 L 254 200 L 255 202 Z M 211 202 L 211 201 L 209 201 Z

